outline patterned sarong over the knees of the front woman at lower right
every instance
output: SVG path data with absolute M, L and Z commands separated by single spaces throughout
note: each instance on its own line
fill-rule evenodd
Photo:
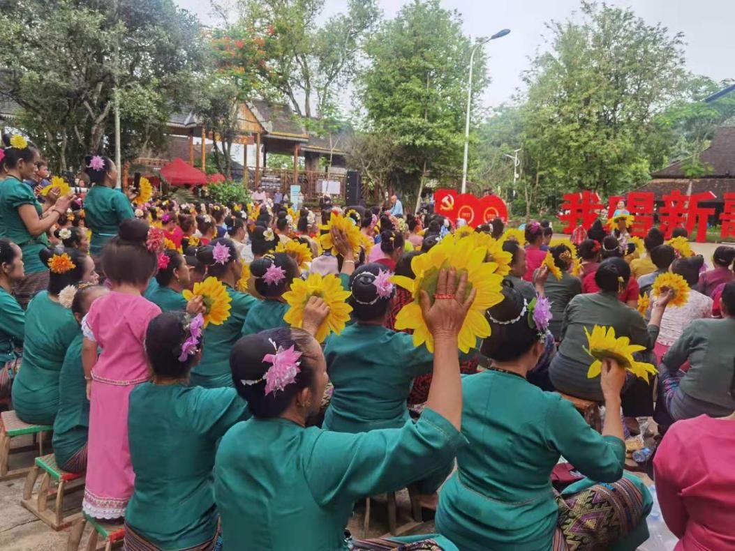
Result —
M 644 522 L 641 491 L 625 477 L 576 494 L 557 494 L 556 504 L 559 520 L 553 551 L 609 549 Z

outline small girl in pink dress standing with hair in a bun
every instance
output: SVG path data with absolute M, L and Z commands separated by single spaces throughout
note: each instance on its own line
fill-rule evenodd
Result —
M 161 313 L 142 296 L 156 272 L 159 246 L 148 240 L 149 251 L 146 240 L 146 222 L 129 219 L 121 223 L 118 237 L 102 253 L 112 292 L 96 300 L 82 320 L 82 364 L 90 398 L 82 508 L 96 519 L 125 516 L 135 481 L 128 447 L 128 397 L 135 385 L 148 380 L 143 339 L 148 322 Z M 162 242 L 162 232 L 159 240 Z M 99 357 L 98 347 L 102 349 Z

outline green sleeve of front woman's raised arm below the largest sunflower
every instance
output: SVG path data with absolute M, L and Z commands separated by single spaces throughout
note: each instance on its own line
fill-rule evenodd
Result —
M 418 422 L 367 433 L 320 431 L 305 458 L 306 483 L 317 503 L 353 503 L 426 477 L 467 440 L 447 419 L 425 409 Z

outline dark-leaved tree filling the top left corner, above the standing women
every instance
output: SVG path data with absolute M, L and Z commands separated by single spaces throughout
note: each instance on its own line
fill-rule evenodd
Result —
M 172 0 L 5 2 L 0 26 L 0 96 L 60 169 L 110 150 L 116 83 L 123 158 L 159 145 L 201 68 L 198 21 Z

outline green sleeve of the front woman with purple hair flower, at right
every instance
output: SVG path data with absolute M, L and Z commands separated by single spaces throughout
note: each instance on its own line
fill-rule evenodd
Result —
M 545 427 L 549 449 L 564 455 L 579 472 L 592 480 L 620 480 L 625 467 L 625 442 L 614 436 L 601 436 L 587 425 L 568 400 L 559 396 L 549 400 L 552 403 Z

